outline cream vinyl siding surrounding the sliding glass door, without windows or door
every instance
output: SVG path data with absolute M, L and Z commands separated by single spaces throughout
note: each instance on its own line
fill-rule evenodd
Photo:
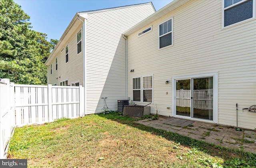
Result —
M 173 18 L 173 46 L 158 49 L 159 24 Z M 152 31 L 138 33 L 152 26 Z M 132 78 L 154 74 L 151 113 L 172 116 L 172 78 L 218 73 L 218 124 L 256 128 L 256 20 L 222 29 L 222 1 L 195 0 L 128 36 L 128 97 Z M 169 84 L 165 84 L 170 80 Z M 168 94 L 166 94 L 168 92 Z M 136 103 L 143 104 L 146 103 Z M 167 107 L 171 107 L 167 109 Z

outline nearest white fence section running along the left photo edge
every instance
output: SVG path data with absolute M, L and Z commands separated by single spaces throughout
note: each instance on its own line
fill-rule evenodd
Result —
M 6 158 L 5 149 L 15 126 L 14 83 L 0 81 L 0 159 Z

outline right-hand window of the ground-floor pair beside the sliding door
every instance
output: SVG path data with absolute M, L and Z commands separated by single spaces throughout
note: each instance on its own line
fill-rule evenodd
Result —
M 143 102 L 152 103 L 153 97 L 153 76 L 143 76 Z

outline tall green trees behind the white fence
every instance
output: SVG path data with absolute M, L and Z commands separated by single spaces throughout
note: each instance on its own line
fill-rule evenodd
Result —
M 31 30 L 30 17 L 13 0 L 0 0 L 0 78 L 16 84 L 47 84 L 44 62 L 58 40 Z

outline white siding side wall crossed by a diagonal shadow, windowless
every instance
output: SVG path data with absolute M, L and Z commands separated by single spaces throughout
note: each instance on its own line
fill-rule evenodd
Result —
M 86 24 L 86 114 L 111 110 L 126 100 L 126 40 L 122 33 L 155 11 L 151 4 L 88 13 Z

